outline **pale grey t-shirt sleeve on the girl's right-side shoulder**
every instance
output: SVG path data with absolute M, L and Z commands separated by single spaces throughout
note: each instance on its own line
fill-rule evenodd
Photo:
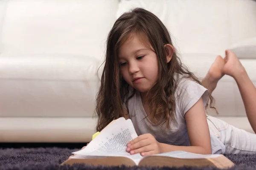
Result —
M 185 117 L 186 112 L 195 105 L 196 102 L 202 97 L 204 101 L 204 108 L 208 100 L 208 90 L 204 86 L 198 84 L 190 79 L 183 79 L 177 86 L 177 106 L 180 113 Z

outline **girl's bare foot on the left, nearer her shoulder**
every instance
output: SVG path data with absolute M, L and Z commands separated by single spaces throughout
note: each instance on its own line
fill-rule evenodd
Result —
M 218 82 L 218 80 L 224 76 L 224 65 L 225 60 L 221 56 L 217 56 L 207 73 L 207 77 L 210 82 Z

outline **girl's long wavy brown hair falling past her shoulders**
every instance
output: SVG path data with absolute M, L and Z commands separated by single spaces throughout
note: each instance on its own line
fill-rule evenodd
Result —
M 132 11 L 122 14 L 108 34 L 105 66 L 96 97 L 97 131 L 101 131 L 114 119 L 128 118 L 128 99 L 134 95 L 135 91 L 132 94 L 129 93 L 128 83 L 121 77 L 118 51 L 122 43 L 132 33 L 143 33 L 158 57 L 158 80 L 146 96 L 152 124 L 160 125 L 162 122 L 166 122 L 169 126 L 169 118 L 174 119 L 174 94 L 177 88 L 175 74 L 181 74 L 201 85 L 198 78 L 181 63 L 176 50 L 171 61 L 167 63 L 164 45 L 173 46 L 173 44 L 163 23 L 151 12 L 143 8 L 134 8 Z M 214 99 L 211 94 L 209 94 L 209 99 L 210 108 L 214 108 L 212 106 Z M 124 102 L 126 108 L 123 106 Z M 161 119 L 157 120 L 156 118 L 159 116 Z

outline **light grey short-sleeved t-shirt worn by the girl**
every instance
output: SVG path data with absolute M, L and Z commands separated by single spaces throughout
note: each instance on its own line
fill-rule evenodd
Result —
M 140 92 L 138 91 L 128 101 L 129 116 L 138 136 L 151 133 L 158 142 L 176 146 L 190 146 L 185 114 L 201 97 L 205 106 L 208 99 L 208 90 L 206 88 L 190 79 L 180 79 L 175 92 L 175 121 L 171 121 L 170 118 L 169 126 L 171 130 L 167 128 L 165 129 L 165 133 L 160 126 L 150 125 L 150 120 L 146 117 L 147 115 L 143 108 Z M 212 135 L 212 133 L 211 143 L 212 154 L 224 153 L 224 144 Z

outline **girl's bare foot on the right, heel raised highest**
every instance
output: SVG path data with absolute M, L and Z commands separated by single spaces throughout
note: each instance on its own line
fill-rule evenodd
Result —
M 223 67 L 223 73 L 236 79 L 241 73 L 245 72 L 244 66 L 241 64 L 233 51 L 226 50 L 224 58 L 226 64 Z

